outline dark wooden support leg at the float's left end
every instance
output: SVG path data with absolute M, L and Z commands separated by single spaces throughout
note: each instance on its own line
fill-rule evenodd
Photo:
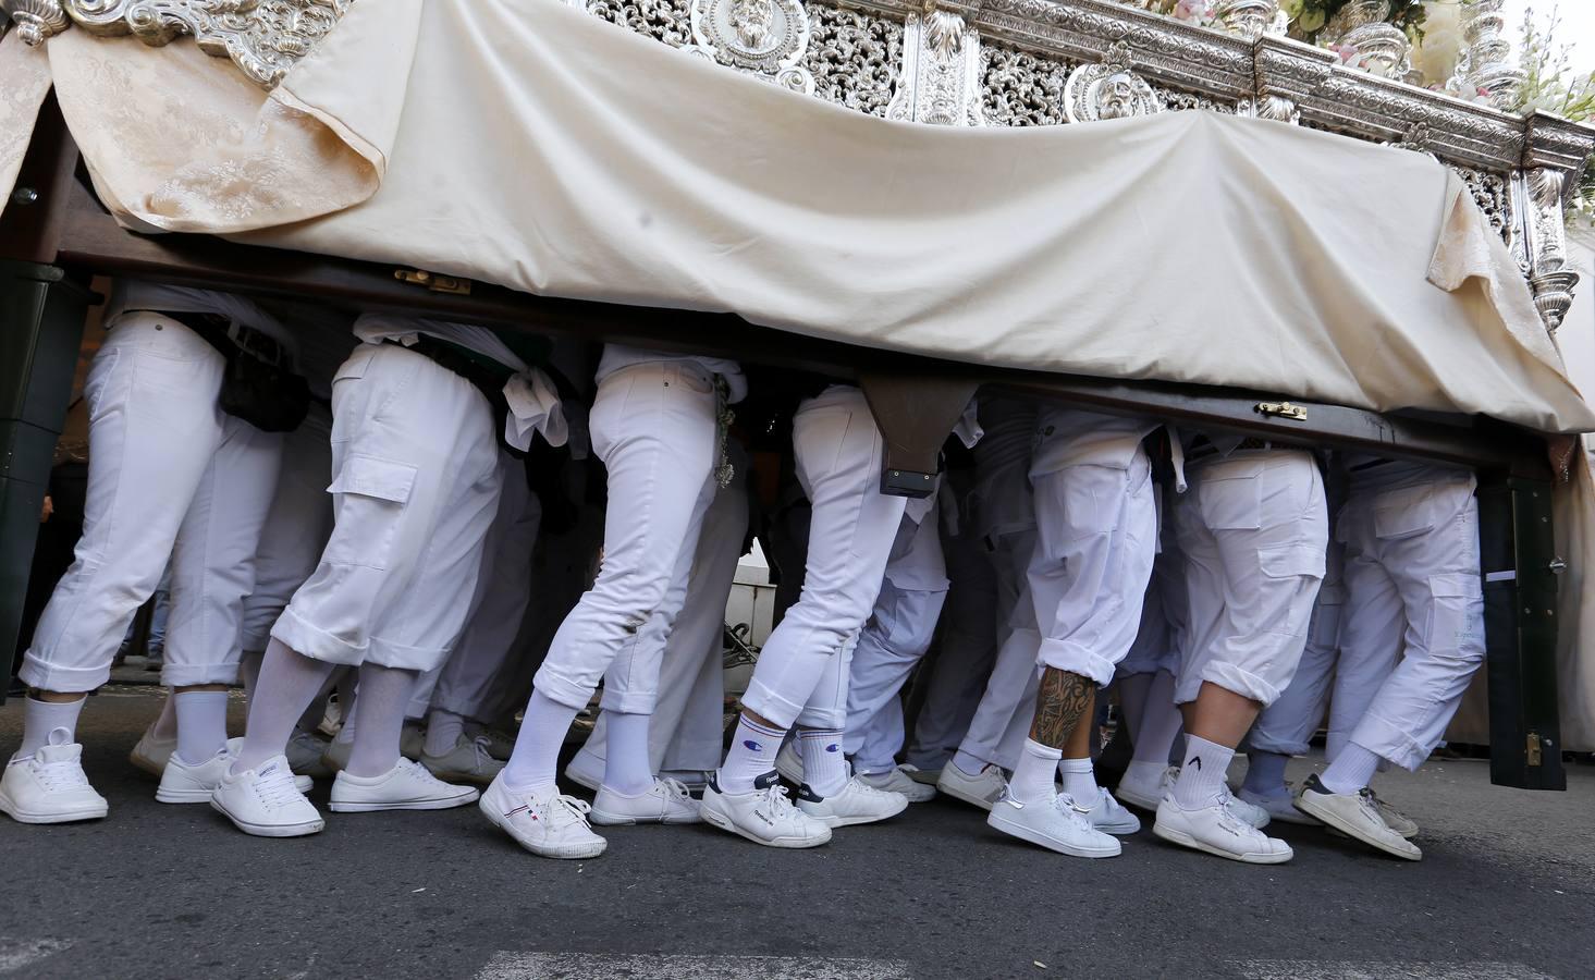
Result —
M 22 621 L 88 300 L 89 292 L 59 268 L 0 260 L 0 650 L 6 661 Z

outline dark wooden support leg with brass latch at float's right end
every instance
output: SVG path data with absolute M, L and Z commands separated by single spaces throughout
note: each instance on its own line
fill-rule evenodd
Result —
M 1479 546 L 1490 672 L 1490 782 L 1565 790 L 1550 484 L 1480 474 Z

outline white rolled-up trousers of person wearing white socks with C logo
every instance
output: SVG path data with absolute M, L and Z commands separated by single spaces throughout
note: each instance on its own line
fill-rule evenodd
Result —
M 842 728 L 847 659 L 876 605 L 904 498 L 880 493 L 885 444 L 858 388 L 833 385 L 793 418 L 798 480 L 809 495 L 802 595 L 753 667 L 742 704 L 780 728 Z

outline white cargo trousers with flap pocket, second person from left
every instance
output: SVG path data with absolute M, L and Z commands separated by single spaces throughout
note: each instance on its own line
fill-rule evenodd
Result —
M 271 635 L 332 664 L 442 662 L 498 512 L 493 429 L 455 372 L 396 343 L 354 348 L 332 381 L 332 536 Z

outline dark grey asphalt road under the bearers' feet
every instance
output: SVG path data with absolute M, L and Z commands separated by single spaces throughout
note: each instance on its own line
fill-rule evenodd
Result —
M 1421 863 L 1311 828 L 1282 832 L 1297 854 L 1282 867 L 1150 832 L 1123 857 L 1077 860 L 949 801 L 805 852 L 644 827 L 608 832 L 601 859 L 552 862 L 474 806 L 333 814 L 321 835 L 278 841 L 158 804 L 126 763 L 155 697 L 110 688 L 85 712 L 108 819 L 0 817 L 5 980 L 1595 975 L 1590 768 L 1566 793 L 1493 788 L 1477 761 L 1383 776 L 1423 825 Z M 19 726 L 16 702 L 0 709 L 0 745 Z

